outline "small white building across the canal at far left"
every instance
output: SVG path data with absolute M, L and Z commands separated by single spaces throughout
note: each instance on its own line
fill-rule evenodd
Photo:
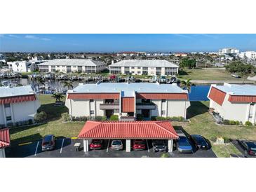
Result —
M 35 62 L 17 61 L 7 62 L 7 64 L 13 72 L 32 72 L 38 69 Z

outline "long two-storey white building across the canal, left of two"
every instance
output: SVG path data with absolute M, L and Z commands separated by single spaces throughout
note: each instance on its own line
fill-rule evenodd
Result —
M 62 73 L 85 73 L 85 74 L 96 74 L 106 69 L 104 62 L 95 60 L 50 60 L 39 64 L 40 72 L 62 72 Z

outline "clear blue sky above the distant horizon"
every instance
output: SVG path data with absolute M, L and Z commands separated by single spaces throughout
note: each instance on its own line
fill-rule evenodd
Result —
M 256 34 L 0 34 L 0 52 L 256 50 Z

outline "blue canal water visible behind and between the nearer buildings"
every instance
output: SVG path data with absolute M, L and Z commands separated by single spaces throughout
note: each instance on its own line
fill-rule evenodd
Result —
M 2 80 L 4 81 L 4 80 Z M 32 88 L 36 89 L 36 81 L 33 81 L 29 78 L 19 78 L 15 80 L 8 80 L 10 83 L 19 83 L 22 85 L 32 85 Z M 85 81 L 73 81 L 74 88 L 79 85 L 79 83 L 85 83 Z M 95 82 L 91 82 L 95 83 Z M 50 87 L 58 92 L 62 92 L 65 90 L 63 88 L 63 85 L 61 81 L 55 81 L 55 80 L 46 80 L 45 81 L 46 87 Z M 67 89 L 67 88 L 66 88 Z M 210 89 L 210 85 L 195 85 L 191 87 L 191 90 L 189 92 L 189 100 L 191 101 L 207 101 L 207 95 L 208 91 Z M 37 91 L 37 90 L 36 90 Z

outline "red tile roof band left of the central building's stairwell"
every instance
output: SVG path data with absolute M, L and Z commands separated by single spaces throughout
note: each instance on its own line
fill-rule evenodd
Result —
M 119 99 L 119 93 L 68 93 L 67 99 L 72 100 L 104 100 L 104 99 Z

